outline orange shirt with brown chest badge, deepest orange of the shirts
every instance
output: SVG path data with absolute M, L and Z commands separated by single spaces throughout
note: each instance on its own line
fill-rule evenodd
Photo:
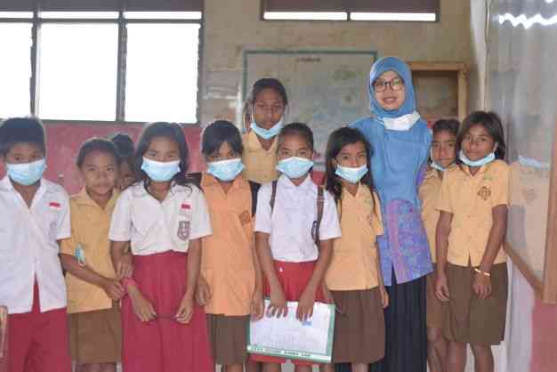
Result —
M 205 311 L 229 316 L 248 315 L 255 288 L 254 219 L 251 190 L 238 176 L 228 193 L 210 174 L 203 174 L 213 235 L 202 238 L 201 273 L 211 288 Z

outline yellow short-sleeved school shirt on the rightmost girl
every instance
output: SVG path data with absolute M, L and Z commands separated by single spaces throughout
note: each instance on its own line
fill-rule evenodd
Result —
M 449 263 L 479 266 L 493 224 L 492 209 L 508 206 L 509 166 L 495 160 L 472 176 L 468 166 L 455 166 L 443 175 L 437 208 L 453 214 L 448 236 Z M 503 247 L 494 264 L 505 262 Z

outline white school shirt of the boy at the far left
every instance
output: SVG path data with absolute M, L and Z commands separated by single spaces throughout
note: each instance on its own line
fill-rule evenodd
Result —
M 66 307 L 56 240 L 71 234 L 68 193 L 41 179 L 29 208 L 6 175 L 0 181 L 0 211 L 0 304 L 10 314 L 31 311 L 36 279 L 41 312 Z

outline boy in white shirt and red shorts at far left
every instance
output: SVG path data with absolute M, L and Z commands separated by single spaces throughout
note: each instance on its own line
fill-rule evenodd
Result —
M 12 329 L 8 370 L 70 372 L 66 286 L 59 242 L 69 238 L 69 197 L 44 180 L 44 127 L 36 118 L 0 125 L 0 303 Z

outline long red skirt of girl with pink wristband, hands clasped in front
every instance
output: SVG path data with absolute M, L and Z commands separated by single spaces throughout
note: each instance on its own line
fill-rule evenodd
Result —
M 214 372 L 206 316 L 196 304 L 189 324 L 174 320 L 186 291 L 188 255 L 164 252 L 133 256 L 133 279 L 157 312 L 143 323 L 132 301 L 122 301 L 124 372 Z

